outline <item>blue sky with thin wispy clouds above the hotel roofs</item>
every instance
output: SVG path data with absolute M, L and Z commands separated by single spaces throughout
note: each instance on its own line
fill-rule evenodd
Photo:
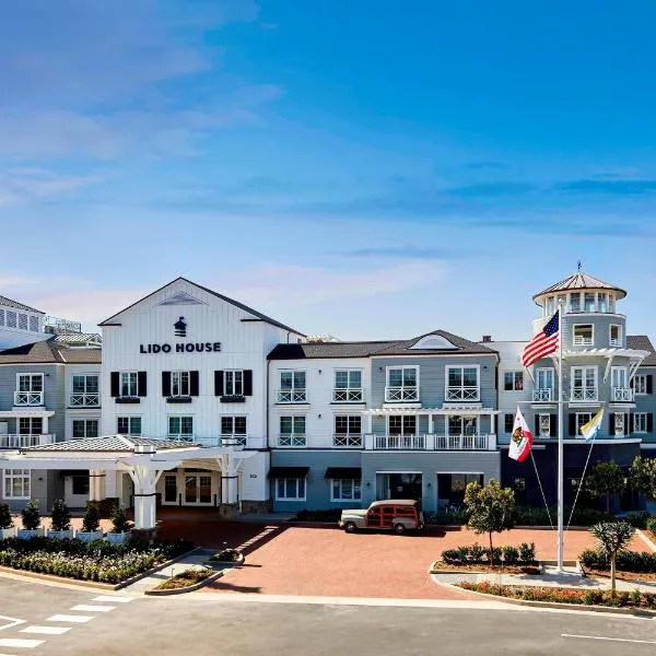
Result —
M 0 7 L 0 294 L 186 276 L 309 333 L 524 339 L 576 269 L 655 335 L 656 5 Z

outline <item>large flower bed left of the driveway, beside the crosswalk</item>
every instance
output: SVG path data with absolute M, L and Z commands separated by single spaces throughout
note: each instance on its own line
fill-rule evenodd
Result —
M 0 565 L 14 570 L 52 574 L 79 581 L 117 584 L 181 555 L 191 549 L 186 541 L 110 544 L 97 540 L 10 538 L 0 542 Z

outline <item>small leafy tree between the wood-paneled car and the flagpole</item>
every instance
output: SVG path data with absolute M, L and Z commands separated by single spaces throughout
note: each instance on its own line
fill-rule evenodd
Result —
M 490 564 L 494 566 L 492 534 L 515 526 L 515 493 L 509 488 L 502 488 L 494 479 L 484 488 L 469 483 L 465 490 L 465 507 L 467 526 L 479 535 L 489 535 Z

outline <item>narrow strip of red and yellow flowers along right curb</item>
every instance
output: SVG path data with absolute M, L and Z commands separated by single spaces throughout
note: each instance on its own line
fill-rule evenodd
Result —
M 619 593 L 612 598 L 608 590 L 582 590 L 576 588 L 494 585 L 492 583 L 459 583 L 458 587 L 473 593 L 522 599 L 524 601 L 549 601 L 578 606 L 608 606 L 614 608 L 643 608 L 656 610 L 656 594 Z

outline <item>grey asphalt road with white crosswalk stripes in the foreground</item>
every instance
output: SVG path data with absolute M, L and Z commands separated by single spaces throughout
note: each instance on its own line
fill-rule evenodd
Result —
M 0 577 L 0 616 L 23 620 L 7 625 L 8 620 L 0 619 L 0 654 L 656 654 L 656 620 L 618 616 L 263 604 L 210 594 L 129 601 L 118 594 L 124 600 L 113 602 L 112 595 Z M 51 619 L 57 616 L 62 619 Z M 74 622 L 71 618 L 87 619 Z M 34 628 L 37 632 L 31 633 Z M 38 633 L 44 628 L 59 633 Z

